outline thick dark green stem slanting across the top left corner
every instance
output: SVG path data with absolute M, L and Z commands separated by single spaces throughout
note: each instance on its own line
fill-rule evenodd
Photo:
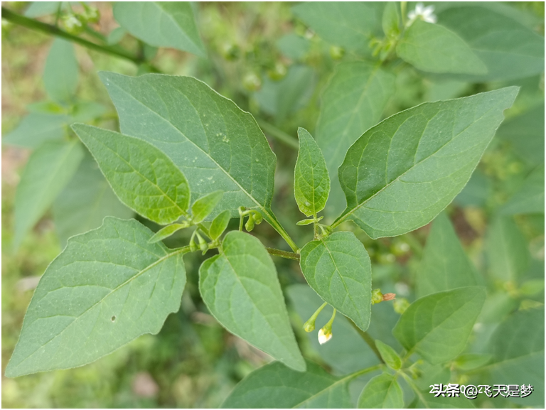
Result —
M 34 20 L 33 18 L 21 16 L 21 14 L 16 14 L 13 11 L 6 9 L 5 7 L 2 7 L 2 18 L 6 19 L 7 21 L 11 23 L 17 24 L 18 26 L 30 28 L 31 30 L 34 30 L 34 31 L 40 31 L 41 33 L 50 34 L 51 36 L 65 38 L 68 41 L 72 41 L 73 43 L 82 45 L 83 47 L 89 48 L 90 50 L 95 50 L 100 53 L 105 53 L 109 55 L 114 55 L 115 57 L 124 58 L 125 60 L 132 61 L 135 64 L 143 63 L 143 60 L 138 58 L 137 55 L 133 55 L 129 53 L 127 50 L 124 50 L 123 48 L 120 48 L 118 46 L 112 46 L 112 45 L 99 45 L 96 43 L 92 43 L 91 41 L 85 40 L 85 38 L 74 36 L 73 34 L 70 34 L 64 30 L 61 30 L 57 26 L 53 26 L 52 24 L 42 23 L 41 21 Z

